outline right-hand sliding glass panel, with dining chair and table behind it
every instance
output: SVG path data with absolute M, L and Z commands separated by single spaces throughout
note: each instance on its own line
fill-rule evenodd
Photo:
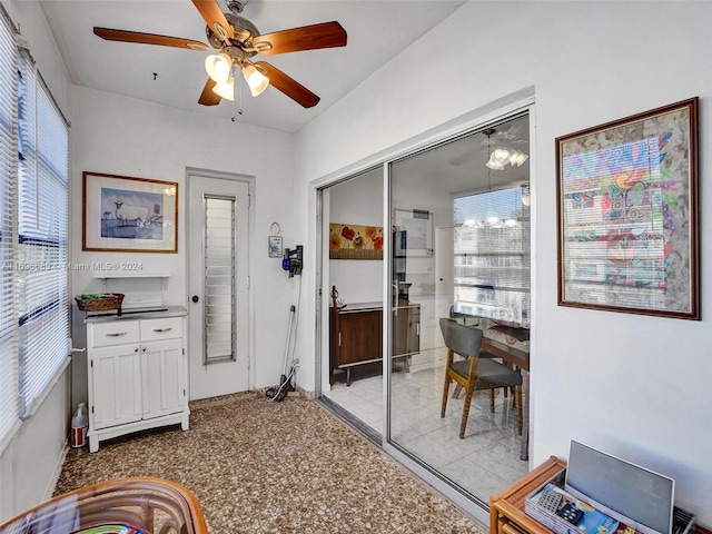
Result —
M 387 439 L 483 505 L 527 472 L 528 132 L 528 116 L 517 116 L 404 157 L 388 172 Z M 477 384 L 467 403 L 467 387 L 446 389 L 441 319 L 482 330 L 481 373 L 502 365 L 524 390 Z

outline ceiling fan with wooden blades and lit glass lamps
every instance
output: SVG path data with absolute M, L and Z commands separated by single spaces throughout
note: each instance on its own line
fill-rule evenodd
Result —
M 222 98 L 233 100 L 234 73 L 239 69 L 255 97 L 260 95 L 267 86 L 273 86 L 305 108 L 316 106 L 319 97 L 309 89 L 273 65 L 266 61 L 253 61 L 251 58 L 258 53 L 275 56 L 301 50 L 345 47 L 346 31 L 342 24 L 333 21 L 260 34 L 253 22 L 239 14 L 248 1 L 229 0 L 227 6 L 231 12 L 224 13 L 217 0 L 192 0 L 207 23 L 208 42 L 218 51 L 206 59 L 205 66 L 209 78 L 198 103 L 215 106 Z M 207 44 L 192 39 L 99 27 L 95 27 L 93 32 L 108 41 L 208 50 Z

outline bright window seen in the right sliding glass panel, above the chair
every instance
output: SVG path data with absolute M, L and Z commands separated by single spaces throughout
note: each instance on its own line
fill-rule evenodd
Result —
M 520 187 L 453 201 L 455 309 L 530 326 L 530 208 Z

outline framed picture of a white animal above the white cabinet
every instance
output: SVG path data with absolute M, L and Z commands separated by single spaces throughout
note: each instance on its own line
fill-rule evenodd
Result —
M 82 250 L 178 251 L 178 184 L 83 172 Z

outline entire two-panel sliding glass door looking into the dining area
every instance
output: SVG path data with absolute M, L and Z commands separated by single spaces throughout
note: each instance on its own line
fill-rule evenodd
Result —
M 328 318 L 317 396 L 482 508 L 528 468 L 528 155 L 522 112 L 318 197 Z M 476 376 L 506 369 L 511 386 L 483 388 L 475 377 L 471 400 L 466 382 L 446 388 L 443 319 L 481 338 Z M 474 359 L 453 353 L 452 362 Z

